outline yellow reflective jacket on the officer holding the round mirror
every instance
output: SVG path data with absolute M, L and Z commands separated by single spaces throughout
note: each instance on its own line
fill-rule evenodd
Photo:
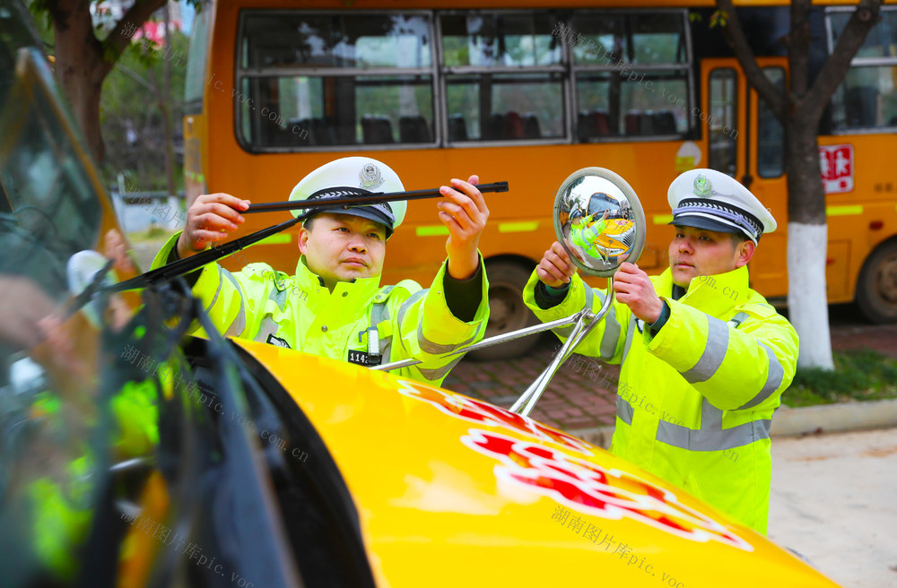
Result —
M 670 307 L 656 336 L 614 299 L 577 348 L 623 364 L 611 452 L 765 533 L 770 424 L 794 377 L 797 333 L 748 287 L 746 267 L 695 278 L 678 300 L 668 269 L 651 281 Z M 537 282 L 534 272 L 524 300 L 544 322 L 597 312 L 605 298 L 577 275 L 562 303 L 545 310 Z M 555 333 L 563 340 L 570 329 Z

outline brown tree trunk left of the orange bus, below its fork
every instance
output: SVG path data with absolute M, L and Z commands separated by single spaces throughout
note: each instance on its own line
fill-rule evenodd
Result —
M 56 42 L 56 74 L 81 125 L 95 161 L 103 158 L 100 92 L 110 64 L 93 34 L 90 2 L 60 2 L 51 8 Z

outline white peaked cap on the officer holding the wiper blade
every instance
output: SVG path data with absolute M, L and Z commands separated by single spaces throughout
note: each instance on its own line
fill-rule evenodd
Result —
M 404 192 L 402 180 L 389 166 L 370 157 L 344 157 L 325 163 L 308 176 L 303 177 L 290 193 L 290 200 L 318 200 L 327 198 L 347 198 L 354 195 L 370 195 L 378 192 Z M 390 203 L 368 204 L 364 206 L 335 206 L 319 208 L 320 212 L 339 212 L 364 219 L 374 220 L 387 228 L 391 235 L 402 221 L 408 203 L 404 200 Z M 299 216 L 305 209 L 292 211 Z

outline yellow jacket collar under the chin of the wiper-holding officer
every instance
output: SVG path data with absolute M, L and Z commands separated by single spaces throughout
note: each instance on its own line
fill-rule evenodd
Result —
M 306 304 L 315 309 L 316 314 L 335 313 L 345 319 L 356 319 L 367 313 L 380 285 L 380 276 L 358 278 L 355 281 L 340 281 L 331 292 L 317 273 L 305 264 L 305 255 L 296 264 L 296 285 L 308 296 Z

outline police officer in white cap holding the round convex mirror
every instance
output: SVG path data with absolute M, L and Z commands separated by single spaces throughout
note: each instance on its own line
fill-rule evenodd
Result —
M 770 422 L 794 376 L 797 333 L 751 290 L 747 264 L 776 221 L 713 169 L 676 177 L 667 198 L 669 268 L 649 277 L 621 264 L 612 309 L 577 352 L 623 364 L 612 453 L 766 532 Z M 597 312 L 604 298 L 556 242 L 524 291 L 544 322 Z

